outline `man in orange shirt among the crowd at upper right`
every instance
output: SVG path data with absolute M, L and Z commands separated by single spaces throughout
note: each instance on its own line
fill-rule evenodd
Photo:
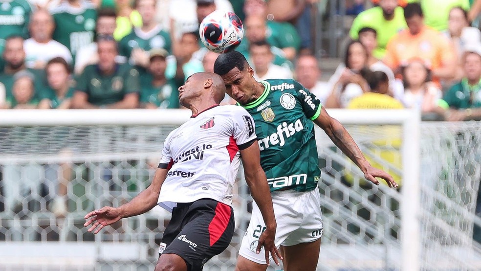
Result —
M 424 24 L 418 3 L 406 5 L 404 18 L 408 29 L 402 30 L 389 41 L 384 63 L 397 72 L 410 59 L 417 57 L 431 68 L 433 82 L 452 79 L 457 61 L 453 44 L 440 32 Z

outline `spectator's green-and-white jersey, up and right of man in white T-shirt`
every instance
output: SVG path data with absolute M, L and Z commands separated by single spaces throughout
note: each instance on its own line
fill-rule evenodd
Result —
M 93 42 L 97 20 L 95 6 L 82 1 L 80 7 L 73 7 L 64 1 L 52 9 L 51 13 L 55 20 L 53 39 L 65 45 L 75 59 L 77 51 L 82 46 Z

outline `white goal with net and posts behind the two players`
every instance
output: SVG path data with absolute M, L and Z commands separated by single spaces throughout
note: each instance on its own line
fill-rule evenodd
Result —
M 401 188 L 365 181 L 317 129 L 324 223 L 318 270 L 479 270 L 481 123 L 420 122 L 405 110 L 328 112 Z M 0 115 L 0 269 L 153 270 L 169 213 L 155 207 L 97 235 L 83 217 L 145 189 L 165 137 L 190 111 Z M 206 270 L 236 264 L 252 201 L 242 174 L 238 179 L 235 236 Z

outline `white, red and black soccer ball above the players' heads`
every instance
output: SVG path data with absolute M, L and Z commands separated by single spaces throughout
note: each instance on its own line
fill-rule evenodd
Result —
M 202 20 L 199 35 L 207 49 L 227 53 L 240 45 L 244 27 L 235 13 L 216 10 Z

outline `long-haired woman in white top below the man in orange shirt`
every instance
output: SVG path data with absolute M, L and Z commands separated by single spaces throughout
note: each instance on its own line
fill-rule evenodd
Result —
M 431 82 L 431 71 L 422 59 L 411 59 L 403 68 L 402 78 L 405 87 L 403 102 L 406 108 L 415 108 L 421 113 L 437 111 L 442 92 Z

